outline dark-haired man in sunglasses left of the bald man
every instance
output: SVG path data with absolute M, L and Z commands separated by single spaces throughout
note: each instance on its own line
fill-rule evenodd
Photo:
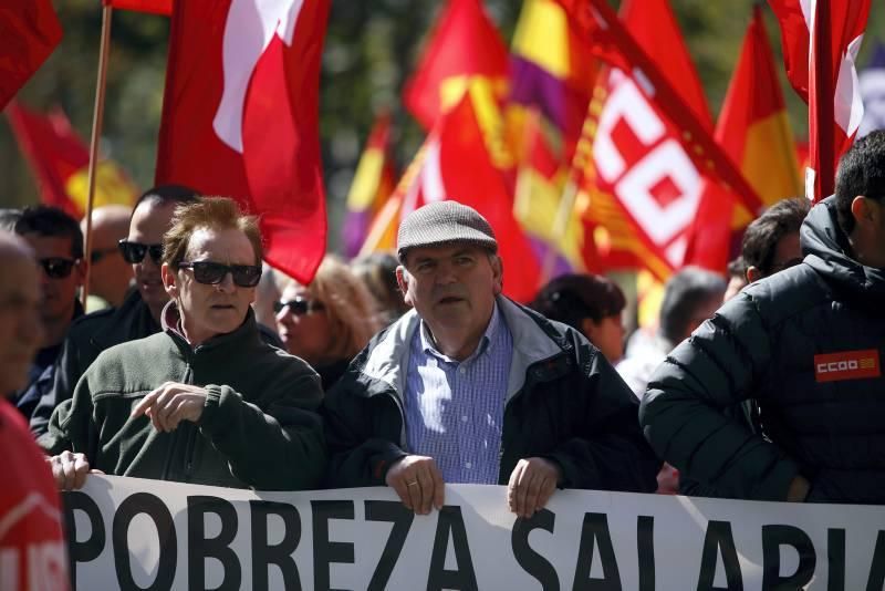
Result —
M 13 397 L 15 406 L 30 421 L 41 396 L 51 387 L 53 365 L 71 323 L 83 314 L 77 289 L 83 284 L 83 235 L 76 220 L 44 205 L 27 207 L 15 221 L 14 231 L 30 246 L 40 263 L 40 318 L 43 342 L 29 371 L 24 390 Z

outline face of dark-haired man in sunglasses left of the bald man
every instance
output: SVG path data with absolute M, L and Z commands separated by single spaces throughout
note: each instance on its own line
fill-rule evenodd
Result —
M 50 259 L 61 259 L 61 265 L 54 268 L 61 269 L 70 267 L 66 276 L 50 277 L 45 268 L 40 273 L 41 289 L 41 315 L 45 321 L 71 320 L 74 314 L 74 299 L 76 289 L 83 284 L 85 274 L 84 266 L 81 261 L 74 263 L 73 247 L 70 237 L 40 236 L 38 234 L 25 234 L 22 236 L 25 242 L 33 249 L 39 261 Z M 73 263 L 73 265 L 70 265 Z M 63 273 L 61 273 L 63 274 Z

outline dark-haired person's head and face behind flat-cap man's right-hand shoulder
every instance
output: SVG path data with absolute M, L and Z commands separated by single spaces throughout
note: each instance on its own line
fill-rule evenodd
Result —
M 529 305 L 581 332 L 614 364 L 624 353 L 621 312 L 626 303 L 621 288 L 610 279 L 571 273 L 544 286 Z

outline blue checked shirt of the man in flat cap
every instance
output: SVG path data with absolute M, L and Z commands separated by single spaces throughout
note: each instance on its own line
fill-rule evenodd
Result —
M 513 340 L 494 304 L 479 346 L 459 362 L 436 350 L 421 321 L 406 380 L 409 450 L 436 460 L 446 483 L 498 484 Z

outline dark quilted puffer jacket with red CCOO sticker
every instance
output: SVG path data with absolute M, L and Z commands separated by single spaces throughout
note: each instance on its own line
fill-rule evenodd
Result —
M 882 504 L 885 272 L 846 253 L 832 197 L 801 242 L 803 263 L 745 289 L 670 353 L 639 421 L 658 455 L 725 496 L 782 500 L 801 474 L 809 500 Z M 773 443 L 723 415 L 749 397 Z

